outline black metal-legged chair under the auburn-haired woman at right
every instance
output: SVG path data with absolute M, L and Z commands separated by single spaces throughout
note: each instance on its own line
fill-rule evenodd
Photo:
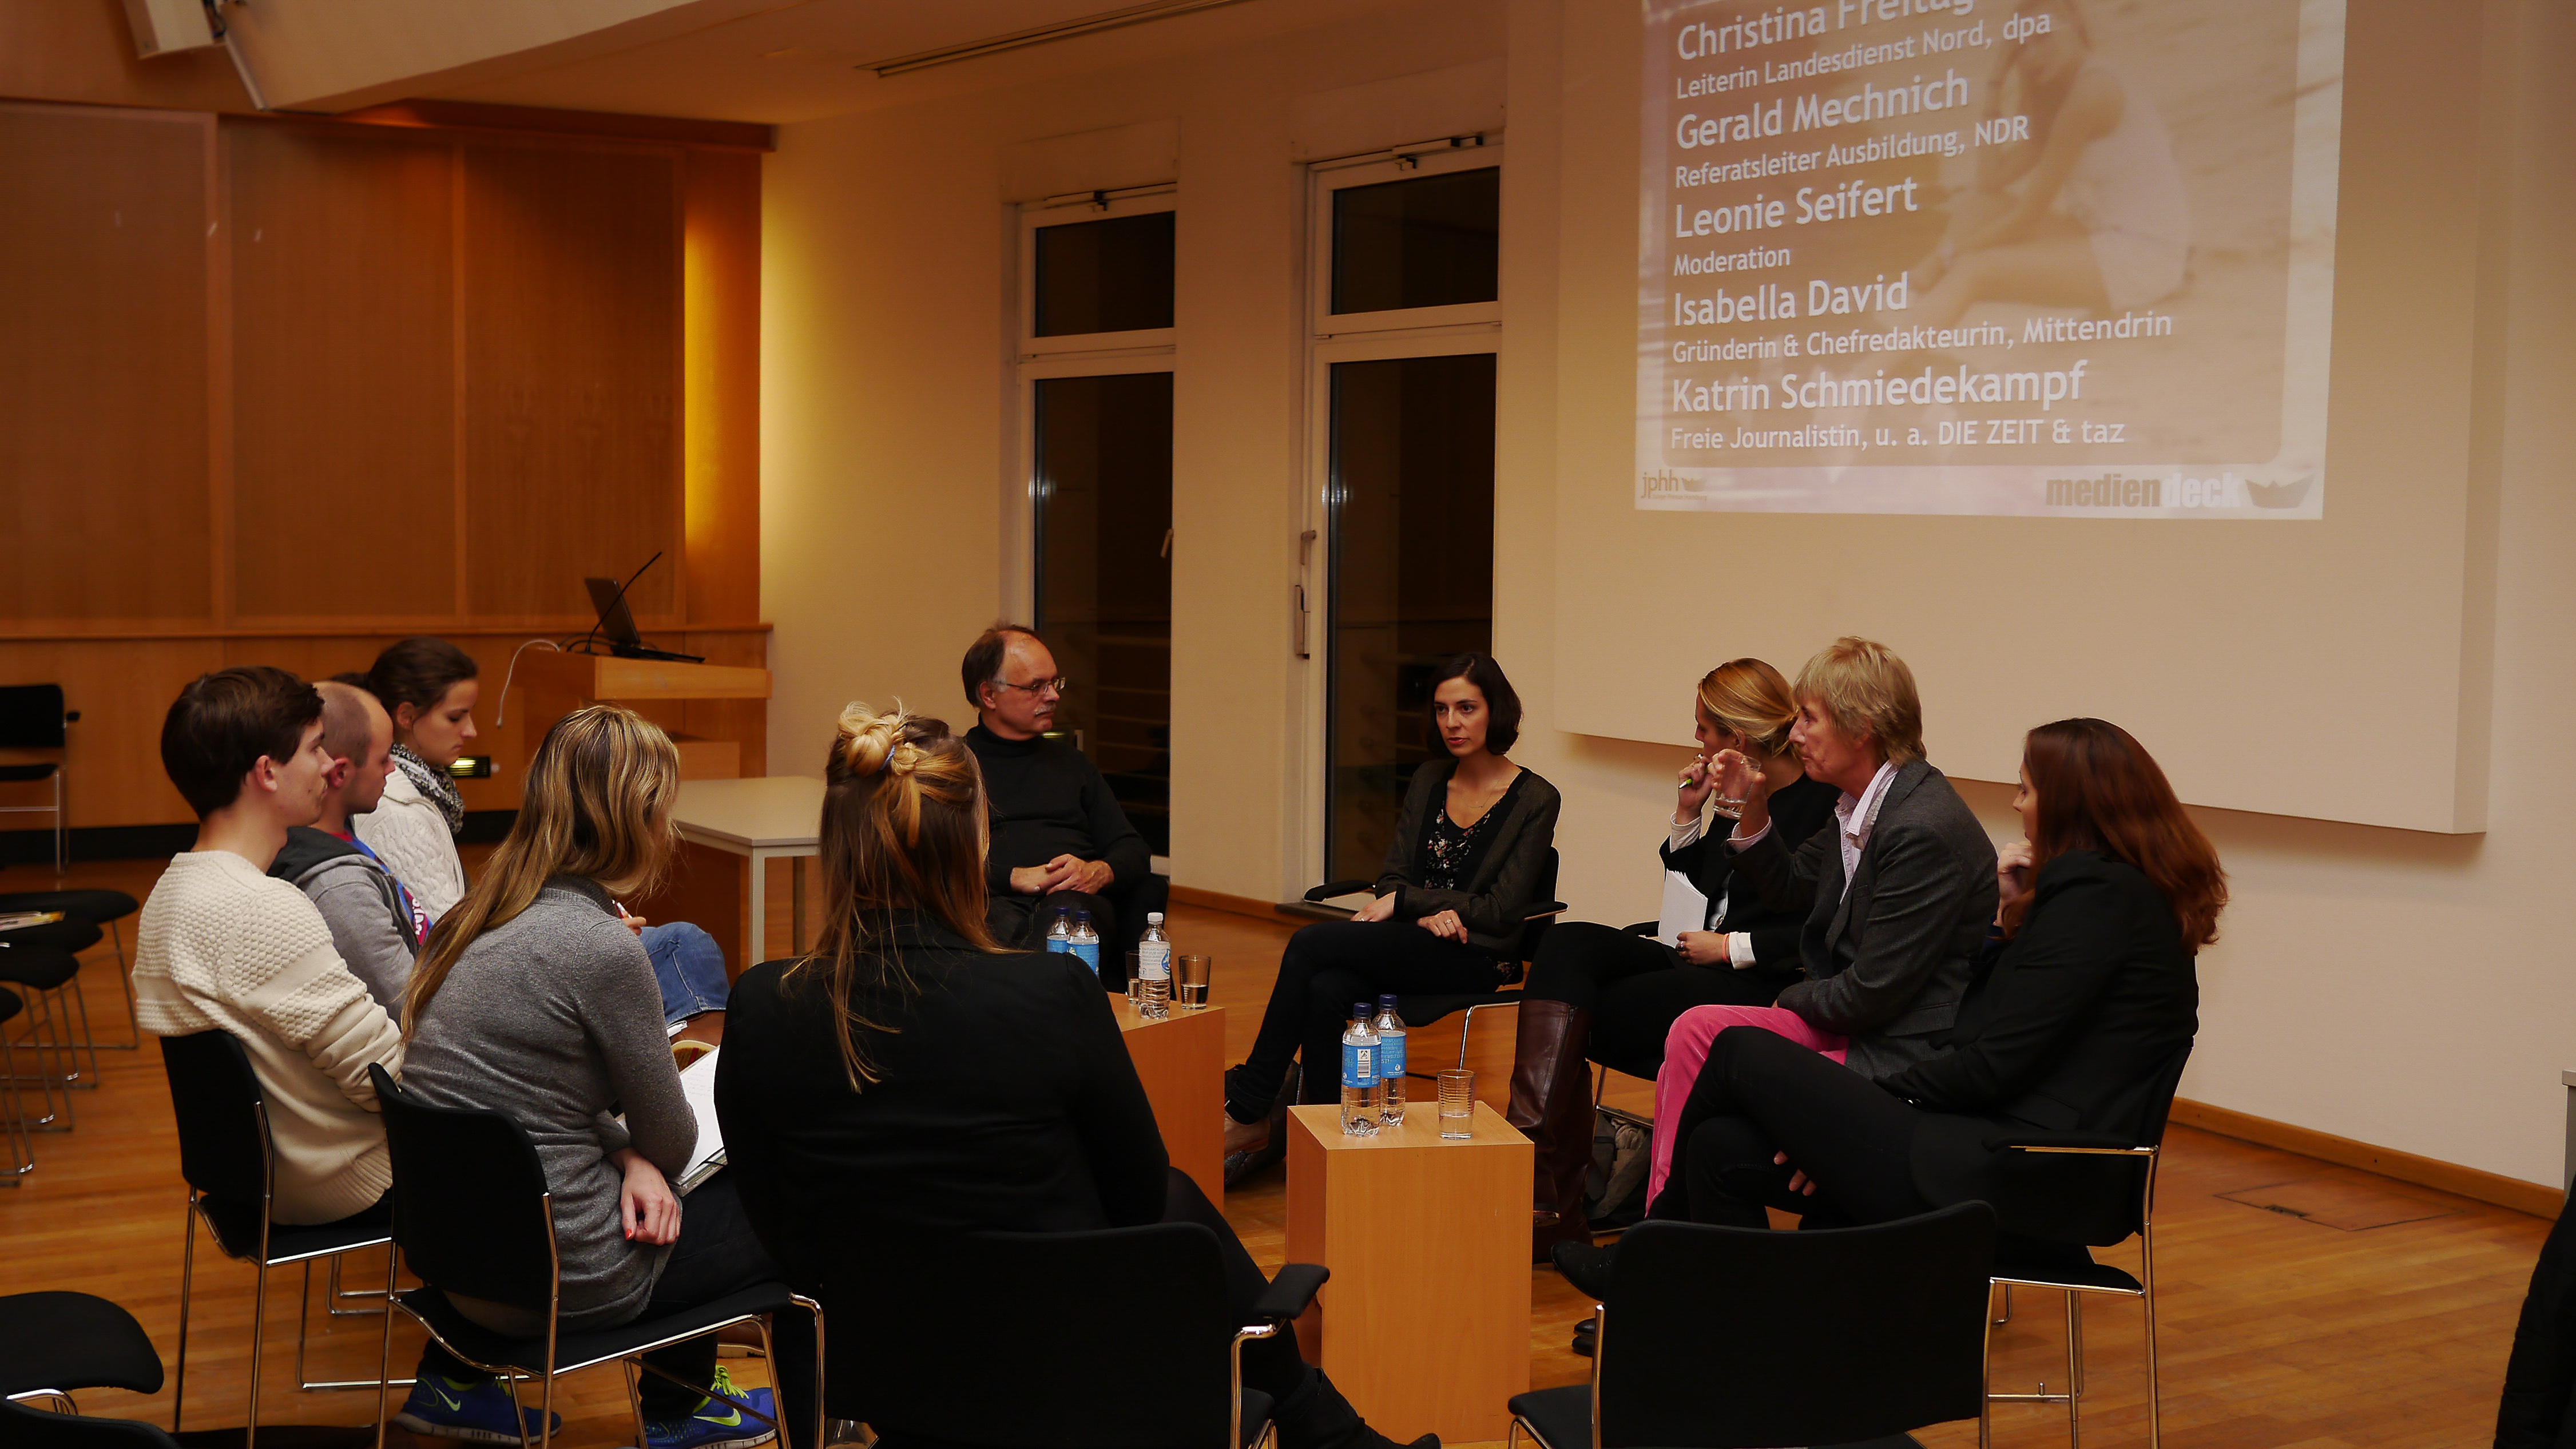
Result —
M 2038 1287 L 2066 1295 L 2066 1392 L 1999 1392 L 1996 1403 L 2063 1403 L 2066 1439 L 2081 1444 L 2084 1436 L 2084 1295 L 2105 1292 L 2136 1297 L 2146 1313 L 2146 1449 L 2164 1444 L 2161 1390 L 2156 1380 L 2156 1161 L 2164 1153 L 2164 1122 L 2174 1112 L 2174 1094 L 2182 1089 L 2182 1068 L 2192 1060 L 2184 1045 L 2156 1076 L 2148 1099 L 2148 1117 L 2138 1140 L 2107 1132 L 1996 1132 L 1989 1148 L 2009 1148 L 2043 1158 L 2043 1171 L 2063 1176 L 2056 1192 L 2071 1202 L 2092 1204 L 2081 1243 L 2110 1248 L 2138 1238 L 2138 1274 L 2130 1277 L 2110 1264 L 2092 1261 L 2081 1246 L 2045 1251 L 2043 1243 L 2012 1243 L 1996 1253 L 1994 1282 L 2004 1289 L 2004 1313 L 2012 1318 L 2012 1289 Z

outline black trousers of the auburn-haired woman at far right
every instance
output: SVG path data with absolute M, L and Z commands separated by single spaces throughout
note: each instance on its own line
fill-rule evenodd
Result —
M 1814 1223 L 1893 1223 L 1935 1204 L 1914 1189 L 1922 1114 L 1875 1081 L 1762 1027 L 1708 1048 L 1674 1127 L 1674 1163 L 1651 1217 L 1765 1228 L 1762 1207 Z M 1772 1156 L 1788 1153 L 1788 1163 Z M 1793 1194 L 1790 1171 L 1816 1181 Z

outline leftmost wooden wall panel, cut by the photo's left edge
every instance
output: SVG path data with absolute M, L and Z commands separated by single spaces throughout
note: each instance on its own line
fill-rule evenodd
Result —
M 0 618 L 214 618 L 211 126 L 0 106 Z

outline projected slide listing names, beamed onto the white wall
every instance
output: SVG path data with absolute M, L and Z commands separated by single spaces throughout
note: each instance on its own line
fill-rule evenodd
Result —
M 2324 517 L 2342 33 L 1649 0 L 1636 507 Z

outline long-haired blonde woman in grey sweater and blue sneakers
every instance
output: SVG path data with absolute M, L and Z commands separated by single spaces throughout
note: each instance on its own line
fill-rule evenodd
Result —
M 652 960 L 618 896 L 672 857 L 677 752 L 616 705 L 556 721 L 528 764 L 518 824 L 412 968 L 402 1084 L 433 1107 L 507 1112 L 528 1130 L 554 1194 L 564 1331 L 677 1313 L 781 1274 L 719 1174 L 683 1212 L 670 1179 L 698 1122 L 680 1094 Z M 623 1122 L 618 1120 L 623 1114 Z M 541 1333 L 520 1307 L 456 1297 L 502 1333 Z M 811 1405 L 811 1320 L 773 1325 L 770 1361 L 791 1413 Z M 647 1449 L 729 1449 L 773 1434 L 770 1390 L 739 1392 L 716 1341 L 647 1354 Z M 811 1408 L 804 1410 L 811 1423 Z M 796 1423 L 796 1418 L 788 1418 Z

